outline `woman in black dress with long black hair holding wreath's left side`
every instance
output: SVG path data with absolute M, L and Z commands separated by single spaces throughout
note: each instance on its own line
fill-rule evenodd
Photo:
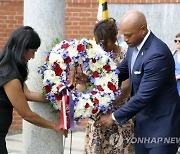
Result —
M 55 123 L 34 113 L 27 103 L 46 101 L 45 96 L 29 91 L 25 84 L 28 76 L 27 62 L 34 58 L 40 43 L 33 28 L 23 26 L 12 33 L 0 54 L 0 154 L 7 154 L 5 137 L 12 122 L 13 107 L 24 120 L 67 135 Z

